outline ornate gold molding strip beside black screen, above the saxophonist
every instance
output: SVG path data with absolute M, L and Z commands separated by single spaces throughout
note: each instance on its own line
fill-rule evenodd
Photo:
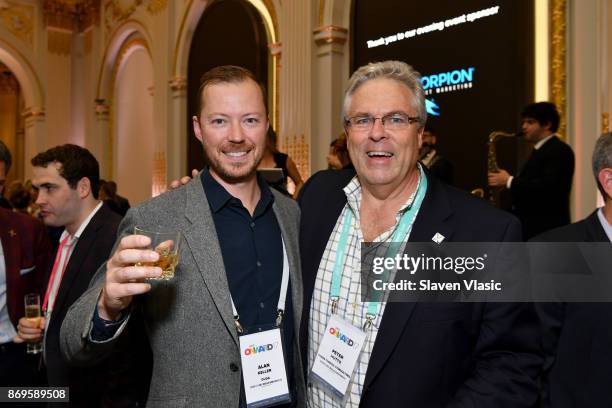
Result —
M 557 105 L 561 115 L 558 134 L 567 140 L 567 0 L 551 0 L 551 50 L 550 50 L 550 73 L 551 73 L 551 101 Z

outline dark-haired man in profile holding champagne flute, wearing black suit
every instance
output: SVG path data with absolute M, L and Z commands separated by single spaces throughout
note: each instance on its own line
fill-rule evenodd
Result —
M 32 166 L 32 185 L 38 190 L 36 204 L 40 206 L 41 217 L 46 225 L 63 227 L 64 231 L 41 299 L 45 316 L 42 327 L 21 318 L 19 339 L 43 340 L 48 383 L 70 387 L 72 406 L 136 403 L 138 392 L 144 391 L 139 390 L 135 381 L 126 383 L 130 378 L 126 372 L 115 369 L 115 365 L 112 370 L 103 364 L 71 367 L 60 353 L 59 333 L 66 312 L 85 292 L 94 271 L 110 254 L 121 220 L 97 198 L 98 161 L 87 149 L 66 144 L 39 153 L 32 159 Z M 132 351 L 139 355 L 136 350 L 143 349 L 144 345 L 139 344 Z M 127 353 L 115 358 L 126 356 Z M 122 365 L 131 359 L 122 361 Z

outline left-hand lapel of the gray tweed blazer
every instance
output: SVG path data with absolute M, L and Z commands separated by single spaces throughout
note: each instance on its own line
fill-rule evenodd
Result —
M 185 231 L 185 241 L 196 260 L 198 271 L 215 302 L 219 314 L 223 318 L 223 322 L 232 334 L 236 345 L 238 345 L 238 334 L 232 313 L 230 291 L 221 247 L 217 239 L 217 231 L 208 200 L 199 177 L 196 177 L 187 186 L 185 217 L 191 223 L 191 226 Z

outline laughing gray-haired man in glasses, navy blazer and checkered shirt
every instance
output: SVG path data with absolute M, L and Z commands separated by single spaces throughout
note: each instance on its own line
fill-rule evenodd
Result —
M 370 326 L 348 372 L 349 406 L 533 406 L 541 357 L 529 304 L 381 302 L 372 313 L 360 294 L 364 241 L 517 241 L 518 220 L 440 183 L 418 163 L 425 97 L 420 75 L 407 64 L 359 68 L 345 93 L 344 117 L 356 175 L 319 172 L 299 199 L 307 366 L 324 333 L 337 332 L 326 328 L 335 315 L 356 330 Z M 312 380 L 312 408 L 341 406 L 341 398 Z

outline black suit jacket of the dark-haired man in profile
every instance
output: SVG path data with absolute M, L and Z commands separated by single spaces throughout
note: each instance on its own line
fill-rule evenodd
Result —
M 144 400 L 146 397 L 147 390 L 143 390 L 143 385 L 134 384 L 138 375 L 147 382 L 148 388 L 150 378 L 150 374 L 147 377 L 146 365 L 147 361 L 150 365 L 150 356 L 147 356 L 150 350 L 147 350 L 148 342 L 142 328 L 130 328 L 139 340 L 126 340 L 124 349 L 91 367 L 70 366 L 60 352 L 60 328 L 66 312 L 87 290 L 96 270 L 109 258 L 120 222 L 121 216 L 106 205 L 91 219 L 70 256 L 45 334 L 45 364 L 49 385 L 69 386 L 72 406 L 133 405 L 131 401 L 138 398 Z M 113 361 L 107 364 L 109 360 Z M 117 364 L 117 361 L 121 364 Z M 138 364 L 143 364 L 143 367 L 137 367 Z M 134 373 L 131 371 L 134 368 L 142 372 Z

